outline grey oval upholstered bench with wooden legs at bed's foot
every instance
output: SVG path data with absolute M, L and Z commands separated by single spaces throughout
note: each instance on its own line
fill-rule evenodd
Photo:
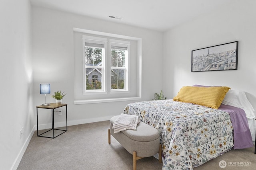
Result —
M 137 160 L 159 154 L 159 162 L 162 162 L 162 147 L 160 145 L 159 132 L 154 127 L 143 123 L 138 123 L 137 130 L 125 130 L 114 133 L 113 123 L 119 116 L 110 119 L 110 129 L 108 129 L 108 143 L 110 144 L 110 134 L 133 155 L 133 170 L 136 170 Z

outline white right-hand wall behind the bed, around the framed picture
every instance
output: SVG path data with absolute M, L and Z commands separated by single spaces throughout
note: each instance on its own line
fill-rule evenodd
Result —
M 236 0 L 229 6 L 198 17 L 164 33 L 166 96 L 182 86 L 221 85 L 243 90 L 256 110 L 256 1 Z M 239 41 L 238 70 L 191 72 L 191 51 Z M 255 136 L 255 129 L 252 132 Z

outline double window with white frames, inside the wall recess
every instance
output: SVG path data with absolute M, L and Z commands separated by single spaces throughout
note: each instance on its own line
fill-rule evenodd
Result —
M 128 91 L 129 46 L 129 41 L 83 35 L 84 94 Z

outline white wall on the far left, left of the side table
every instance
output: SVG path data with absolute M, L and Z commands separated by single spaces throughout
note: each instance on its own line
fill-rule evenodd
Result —
M 17 168 L 35 125 L 29 0 L 1 0 L 0 24 L 0 169 L 9 170 Z

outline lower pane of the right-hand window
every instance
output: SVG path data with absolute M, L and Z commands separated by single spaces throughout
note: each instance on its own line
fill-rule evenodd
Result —
M 124 70 L 121 70 L 121 69 L 111 70 L 111 88 L 124 89 Z

